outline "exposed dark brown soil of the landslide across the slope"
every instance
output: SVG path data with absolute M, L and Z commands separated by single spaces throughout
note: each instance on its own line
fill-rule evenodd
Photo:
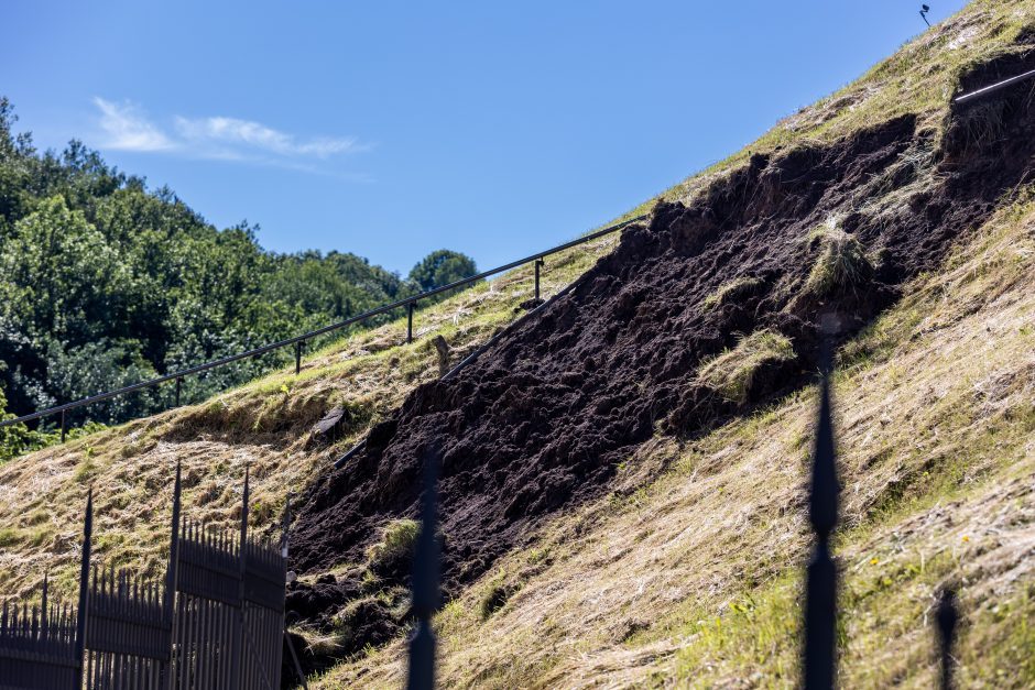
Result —
M 359 561 L 385 521 L 414 516 L 417 459 L 437 443 L 444 576 L 456 587 L 537 518 L 599 494 L 658 425 L 693 435 L 800 385 L 820 314 L 857 330 L 1028 174 L 1033 111 L 1012 91 L 1003 98 L 1016 100 L 1000 110 L 1003 136 L 941 142 L 901 118 L 832 145 L 754 155 L 689 206 L 660 204 L 567 295 L 455 379 L 415 391 L 314 486 L 295 567 Z M 763 330 L 789 353 L 723 372 L 739 394 L 699 375 Z

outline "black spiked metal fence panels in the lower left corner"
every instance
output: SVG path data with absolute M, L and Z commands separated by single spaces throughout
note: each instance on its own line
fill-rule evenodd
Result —
M 79 603 L 0 613 L 0 690 L 265 689 L 281 684 L 287 515 L 280 543 L 181 518 L 179 468 L 161 583 L 90 563 L 92 491 L 84 521 Z

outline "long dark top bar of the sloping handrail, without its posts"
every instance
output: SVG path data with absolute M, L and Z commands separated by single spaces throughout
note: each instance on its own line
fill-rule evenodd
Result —
M 316 330 L 307 331 L 307 332 L 305 332 L 305 333 L 302 333 L 301 336 L 294 336 L 294 337 L 292 337 L 292 338 L 286 338 L 286 339 L 284 339 L 284 340 L 279 340 L 279 341 L 276 341 L 276 342 L 271 342 L 271 343 L 269 343 L 269 344 L 264 344 L 264 346 L 259 347 L 259 348 L 255 348 L 255 349 L 253 349 L 253 350 L 247 350 L 247 351 L 240 352 L 240 353 L 238 353 L 238 354 L 230 354 L 230 355 L 228 355 L 228 357 L 224 357 L 224 358 L 220 358 L 220 359 L 218 359 L 218 360 L 213 360 L 213 361 L 210 361 L 210 362 L 205 362 L 204 364 L 197 364 L 197 365 L 190 366 L 190 368 L 188 368 L 188 369 L 183 369 L 183 370 L 177 371 L 177 372 L 174 372 L 174 373 L 172 373 L 172 374 L 164 374 L 164 375 L 162 375 L 162 376 L 157 376 L 157 377 L 155 377 L 155 379 L 151 379 L 151 380 L 148 380 L 148 381 L 141 381 L 140 383 L 134 383 L 134 384 L 132 384 L 132 385 L 128 385 L 128 386 L 124 386 L 124 387 L 121 387 L 121 388 L 117 388 L 117 390 L 115 390 L 115 391 L 108 391 L 107 393 L 99 393 L 99 394 L 97 394 L 97 395 L 91 395 L 90 397 L 84 397 L 84 398 L 81 398 L 81 399 L 78 399 L 78 401 L 75 401 L 75 402 L 72 402 L 72 403 L 65 403 L 64 405 L 57 405 L 56 407 L 50 407 L 50 408 L 47 408 L 47 409 L 41 409 L 41 410 L 39 410 L 39 412 L 34 412 L 34 413 L 29 414 L 29 415 L 22 415 L 21 417 L 15 417 L 15 418 L 13 418 L 13 419 L 6 419 L 6 420 L 0 421 L 0 428 L 8 427 L 8 426 L 12 426 L 12 425 L 15 425 L 15 424 L 25 423 L 25 421 L 32 421 L 33 419 L 41 419 L 41 418 L 43 418 L 43 417 L 50 417 L 51 415 L 56 415 L 56 414 L 58 414 L 58 413 L 65 413 L 65 412 L 67 412 L 67 410 L 69 410 L 69 409 L 76 409 L 76 408 L 78 408 L 78 407 L 85 407 L 85 406 L 91 405 L 91 404 L 94 404 L 94 403 L 100 403 L 100 402 L 102 402 L 102 401 L 107 401 L 107 399 L 110 399 L 110 398 L 112 398 L 112 397 L 118 397 L 118 396 L 120 396 L 120 395 L 126 395 L 127 393 L 133 393 L 133 392 L 135 392 L 135 391 L 141 391 L 141 390 L 143 390 L 143 388 L 151 388 L 151 387 L 161 385 L 161 384 L 163 384 L 163 383 L 168 383 L 170 381 L 177 381 L 177 382 L 178 382 L 179 380 L 185 379 L 186 376 L 190 376 L 190 375 L 193 375 L 193 374 L 198 374 L 198 373 L 208 371 L 208 370 L 210 370 L 210 369 L 216 369 L 216 368 L 218 368 L 218 366 L 224 366 L 224 365 L 226 365 L 226 364 L 230 364 L 230 363 L 232 363 L 232 362 L 237 362 L 237 361 L 240 361 L 240 360 L 243 360 L 243 359 L 248 359 L 248 358 L 251 358 L 251 357 L 258 357 L 258 355 L 260 355 L 260 354 L 265 354 L 266 352 L 272 352 L 273 350 L 279 350 L 279 349 L 281 349 L 281 348 L 286 348 L 286 347 L 288 347 L 288 346 L 293 346 L 293 344 L 298 344 L 298 346 L 301 346 L 301 344 L 304 343 L 306 340 L 310 340 L 310 339 L 313 339 L 313 338 L 316 338 L 317 336 L 323 336 L 324 333 L 328 333 L 328 332 L 330 332 L 330 331 L 340 330 L 340 329 L 342 329 L 342 328 L 346 328 L 346 327 L 348 327 L 348 326 L 351 326 L 352 324 L 358 324 L 358 322 L 360 322 L 360 321 L 364 321 L 364 320 L 367 320 L 367 319 L 369 319 L 369 318 L 371 318 L 371 317 L 379 316 L 379 315 L 381 315 L 381 314 L 386 314 L 386 313 L 389 313 L 389 311 L 392 311 L 392 310 L 394 310 L 394 309 L 399 309 L 399 308 L 401 308 L 401 307 L 406 307 L 406 308 L 410 310 L 410 314 L 411 314 L 411 316 L 412 316 L 412 314 L 413 314 L 413 311 L 412 311 L 413 307 L 416 305 L 417 302 L 420 302 L 420 300 L 422 300 L 422 299 L 428 299 L 429 297 L 434 297 L 435 295 L 439 295 L 439 294 L 442 294 L 442 293 L 445 293 L 445 292 L 448 292 L 448 291 L 451 291 L 451 289 L 456 289 L 457 287 L 464 287 L 464 286 L 466 286 L 466 285 L 470 285 L 470 284 L 472 284 L 472 283 L 477 283 L 478 281 L 481 281 L 481 280 L 483 280 L 483 278 L 487 278 L 487 277 L 489 277 L 489 276 L 495 275 L 495 274 L 498 274 L 498 273 L 502 273 L 502 272 L 504 272 L 504 271 L 510 271 L 511 269 L 516 269 L 518 266 L 524 265 L 524 264 L 526 264 L 526 263 L 537 262 L 537 261 L 542 260 L 544 256 L 549 256 L 551 254 L 556 254 L 556 253 L 558 253 L 558 252 L 563 252 L 563 251 L 566 250 L 566 249 L 571 249 L 573 247 L 578 247 L 579 244 L 585 244 L 586 242 L 590 242 L 590 241 L 592 241 L 592 240 L 596 240 L 596 239 L 598 239 L 598 238 L 604 237 L 604 236 L 607 236 L 607 234 L 611 234 L 612 232 L 617 232 L 617 231 L 619 231 L 619 230 L 621 230 L 621 229 L 623 229 L 623 228 L 625 228 L 625 227 L 628 227 L 628 226 L 631 226 L 631 224 L 634 223 L 634 222 L 639 222 L 639 221 L 641 221 L 641 220 L 645 220 L 649 216 L 650 216 L 650 213 L 642 213 L 642 215 L 640 215 L 640 216 L 636 216 L 635 218 L 630 218 L 629 220 L 624 220 L 624 221 L 622 221 L 622 222 L 620 222 L 620 223 L 615 223 L 615 224 L 613 224 L 613 226 L 609 226 L 609 227 L 607 227 L 607 228 L 603 228 L 602 230 L 597 230 L 596 232 L 590 232 L 589 234 L 586 234 L 586 236 L 582 236 L 582 237 L 580 237 L 580 238 L 578 238 L 578 239 L 571 240 L 570 242 L 565 242 L 564 244 L 558 244 L 557 247 L 554 247 L 554 248 L 552 248 L 552 249 L 547 249 L 547 250 L 545 250 L 545 251 L 537 252 L 537 253 L 532 254 L 532 255 L 530 255 L 530 256 L 525 256 L 524 259 L 519 259 L 518 261 L 512 261 L 512 262 L 510 262 L 510 263 L 508 263 L 508 264 L 504 264 L 504 265 L 502 265 L 502 266 L 497 266 L 495 269 L 490 269 L 489 271 L 482 271 L 481 273 L 479 273 L 479 274 L 477 274 L 477 275 L 472 275 L 472 276 L 470 276 L 470 277 L 461 278 L 461 280 L 459 280 L 459 281 L 454 281 L 453 283 L 449 283 L 448 285 L 443 285 L 442 287 L 436 287 L 435 289 L 429 289 L 429 291 L 424 292 L 424 293 L 421 293 L 421 294 L 418 294 L 418 295 L 412 295 L 412 296 L 410 296 L 410 297 L 405 297 L 405 298 L 403 298 L 403 299 L 399 299 L 399 300 L 393 302 L 393 303 L 391 303 L 391 304 L 386 304 L 386 305 L 377 307 L 377 308 L 374 308 L 374 309 L 371 309 L 371 310 L 369 310 L 369 311 L 364 311 L 364 313 L 362 313 L 362 314 L 359 314 L 359 315 L 357 315 L 357 316 L 349 317 L 349 318 L 347 318 L 347 319 L 345 319 L 345 320 L 342 320 L 342 321 L 338 321 L 338 322 L 336 322 L 336 324 L 330 324 L 330 325 L 328 325 L 328 326 L 324 326 L 323 328 L 317 328 Z M 412 327 L 412 321 L 411 321 L 411 327 Z M 412 331 L 411 331 L 411 332 L 412 332 Z M 301 354 L 299 354 L 298 357 L 301 357 Z M 298 363 L 298 359 L 296 358 L 296 371 L 297 371 L 297 363 Z M 64 415 L 63 415 L 63 421 L 64 421 Z M 62 424 L 62 432 L 63 432 L 63 435 L 64 435 L 64 430 L 65 430 L 65 426 L 64 426 L 64 424 Z

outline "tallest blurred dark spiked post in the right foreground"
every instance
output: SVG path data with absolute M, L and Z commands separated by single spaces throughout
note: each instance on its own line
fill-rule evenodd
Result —
M 829 690 L 836 677 L 837 570 L 830 558 L 830 534 L 837 525 L 838 480 L 835 466 L 834 419 L 830 412 L 830 337 L 824 335 L 819 384 L 819 426 L 813 456 L 808 516 L 816 545 L 807 569 L 805 593 L 804 679 L 807 690 Z

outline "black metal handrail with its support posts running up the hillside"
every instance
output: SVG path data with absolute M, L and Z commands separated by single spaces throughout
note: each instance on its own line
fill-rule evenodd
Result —
M 625 228 L 625 227 L 628 227 L 628 226 L 630 226 L 630 224 L 632 224 L 632 223 L 634 223 L 634 222 L 640 222 L 641 220 L 644 220 L 644 219 L 647 218 L 647 217 L 649 217 L 649 213 L 644 213 L 644 215 L 641 215 L 641 216 L 636 216 L 635 218 L 630 218 L 629 220 L 622 221 L 622 222 L 617 223 L 617 224 L 613 224 L 613 226 L 609 226 L 609 227 L 607 227 L 607 228 L 603 228 L 602 230 L 597 230 L 596 232 L 590 232 L 589 234 L 582 236 L 582 237 L 580 237 L 580 238 L 578 238 L 578 239 L 576 239 L 576 240 L 571 240 L 570 242 L 565 242 L 564 244 L 558 244 L 557 247 L 554 247 L 554 248 L 552 248 L 552 249 L 547 249 L 547 250 L 545 250 L 545 251 L 537 252 L 537 253 L 535 253 L 535 254 L 532 254 L 531 256 L 525 256 L 524 259 L 519 259 L 518 261 L 512 261 L 512 262 L 510 262 L 510 263 L 508 263 L 508 264 L 503 264 L 502 266 L 497 266 L 495 269 L 490 269 L 490 270 L 488 270 L 488 271 L 482 271 L 481 273 L 479 273 L 479 274 L 477 274 L 477 275 L 472 275 L 472 276 L 470 276 L 470 277 L 466 277 L 466 278 L 462 278 L 462 280 L 459 280 L 459 281 L 455 281 L 455 282 L 453 282 L 453 283 L 449 283 L 448 285 L 443 285 L 442 287 L 436 287 L 435 289 L 429 289 L 429 291 L 427 291 L 427 292 L 421 293 L 420 295 L 413 295 L 413 296 L 411 296 L 411 297 L 405 297 L 404 299 L 400 299 L 400 300 L 397 300 L 397 302 L 393 302 L 393 303 L 391 303 L 391 304 L 386 304 L 386 305 L 380 306 L 380 307 L 378 307 L 378 308 L 375 308 L 375 309 L 371 309 L 371 310 L 369 310 L 369 311 L 364 311 L 364 313 L 359 314 L 359 315 L 357 315 L 357 316 L 353 316 L 353 317 L 347 318 L 347 319 L 345 319 L 345 320 L 338 321 L 337 324 L 330 324 L 329 326 L 324 326 L 323 328 L 317 328 L 316 330 L 310 330 L 310 331 L 308 331 L 308 332 L 302 333 L 301 336 L 294 336 L 294 337 L 287 338 L 287 339 L 285 339 L 285 340 L 280 340 L 280 341 L 277 341 L 277 342 L 271 342 L 271 343 L 265 344 L 265 346 L 262 346 L 262 347 L 260 347 L 260 348 L 254 348 L 254 349 L 252 349 L 252 350 L 247 350 L 247 351 L 244 351 L 244 352 L 239 352 L 239 353 L 237 353 L 237 354 L 230 354 L 230 355 L 220 358 L 220 359 L 218 359 L 218 360 L 213 360 L 213 361 L 210 361 L 210 362 L 205 362 L 204 364 L 197 364 L 196 366 L 190 366 L 190 368 L 187 368 L 187 369 L 177 371 L 177 372 L 173 372 L 173 373 L 170 373 L 170 374 L 164 374 L 164 375 L 162 375 L 162 376 L 157 376 L 157 377 L 155 377 L 155 379 L 151 379 L 150 381 L 142 381 L 142 382 L 140 382 L 140 383 L 134 383 L 134 384 L 132 384 L 132 385 L 124 386 L 124 387 L 118 388 L 118 390 L 116 390 L 116 391 L 108 391 L 108 392 L 106 392 L 106 393 L 99 393 L 99 394 L 97 394 L 97 395 L 91 395 L 91 396 L 89 396 L 89 397 L 85 397 L 85 398 L 79 399 L 79 401 L 74 401 L 74 402 L 72 402 L 72 403 L 65 403 L 64 405 L 57 405 L 57 406 L 55 406 L 55 407 L 50 407 L 50 408 L 47 408 L 47 409 L 41 409 L 41 410 L 39 410 L 39 412 L 34 412 L 34 413 L 29 414 L 29 415 L 22 415 L 21 417 L 14 417 L 14 418 L 12 418 L 12 419 L 0 420 L 0 428 L 7 427 L 7 426 L 11 426 L 11 425 L 15 425 L 15 424 L 24 424 L 24 423 L 26 423 L 26 421 L 33 421 L 33 420 L 35 420 L 35 419 L 43 419 L 43 418 L 45 418 L 45 417 L 51 417 L 51 416 L 54 416 L 54 415 L 61 415 L 61 435 L 62 435 L 62 441 L 64 441 L 64 440 L 65 440 L 65 434 L 66 434 L 66 431 L 67 431 L 66 413 L 67 413 L 68 410 L 70 410 L 70 409 L 77 409 L 77 408 L 79 408 L 79 407 L 86 407 L 86 406 L 92 405 L 92 404 L 95 404 L 95 403 L 100 403 L 100 402 L 108 401 L 108 399 L 111 399 L 111 398 L 115 398 L 115 397 L 119 397 L 119 396 L 122 396 L 122 395 L 128 395 L 128 394 L 134 393 L 134 392 L 137 392 L 137 391 L 142 391 L 142 390 L 144 390 L 144 388 L 153 388 L 153 387 L 160 386 L 160 385 L 165 384 L 165 383 L 173 383 L 173 384 L 175 385 L 175 404 L 176 404 L 176 406 L 178 407 L 178 406 L 179 406 L 179 394 L 181 394 L 183 381 L 184 381 L 184 379 L 186 379 L 187 376 L 197 375 L 197 374 L 200 374 L 200 373 L 203 373 L 203 372 L 210 371 L 210 370 L 213 370 L 213 369 L 218 369 L 218 368 L 220 368 L 220 366 L 226 366 L 226 365 L 228 365 L 228 364 L 232 364 L 233 362 L 239 362 L 239 361 L 241 361 L 241 360 L 246 360 L 246 359 L 250 359 L 250 358 L 255 358 L 255 357 L 261 357 L 261 355 L 263 355 L 263 354 L 265 354 L 265 353 L 268 353 L 268 352 L 273 352 L 273 351 L 275 351 L 275 350 L 281 350 L 281 349 L 283 349 L 283 348 L 288 348 L 288 347 L 292 347 L 292 346 L 294 346 L 294 348 L 295 348 L 295 373 L 297 374 L 297 373 L 299 373 L 299 372 L 302 371 L 302 354 L 303 354 L 303 351 L 305 350 L 305 346 L 306 346 L 306 342 L 307 342 L 307 341 L 312 341 L 312 340 L 314 340 L 315 338 L 317 338 L 317 337 L 319 337 L 319 336 L 324 336 L 324 335 L 329 333 L 329 332 L 333 332 L 333 331 L 337 331 L 337 330 L 341 330 L 341 329 L 344 329 L 344 328 L 348 328 L 349 326 L 352 326 L 352 325 L 355 325 L 355 324 L 361 324 L 361 322 L 367 321 L 368 319 L 371 319 L 371 318 L 373 318 L 373 317 L 375 317 L 375 316 L 380 316 L 380 315 L 382 315 L 382 314 L 390 314 L 390 313 L 395 311 L 395 310 L 397 310 L 397 309 L 405 309 L 405 310 L 406 310 L 406 317 L 407 317 L 407 318 L 406 318 L 406 342 L 413 342 L 414 313 L 415 313 L 415 310 L 416 310 L 416 308 L 417 308 L 417 305 L 418 305 L 421 302 L 426 302 L 426 300 L 431 299 L 432 297 L 442 295 L 442 294 L 444 294 L 444 293 L 448 293 L 448 292 L 450 292 L 450 291 L 455 291 L 455 289 L 460 288 L 460 287 L 467 287 L 468 285 L 472 285 L 472 284 L 475 284 L 475 283 L 478 283 L 479 281 L 483 281 L 484 278 L 491 277 L 491 276 L 493 276 L 493 275 L 503 273 L 503 272 L 505 272 L 505 271 L 510 271 L 511 269 L 516 269 L 516 267 L 519 267 L 519 266 L 523 266 L 523 265 L 530 264 L 530 263 L 534 265 L 534 273 L 535 273 L 535 276 L 534 276 L 534 288 L 533 288 L 533 298 L 534 298 L 534 299 L 538 299 L 538 298 L 540 298 L 540 270 L 541 270 L 542 266 L 544 265 L 544 263 L 543 263 L 543 259 L 544 259 L 544 258 L 551 256 L 551 255 L 556 254 L 556 253 L 558 253 L 558 252 L 563 252 L 563 251 L 565 251 L 565 250 L 567 250 L 567 249 L 571 249 L 573 247 L 578 247 L 579 244 L 585 244 L 586 242 L 590 242 L 590 241 L 592 241 L 592 240 L 599 239 L 599 238 L 604 237 L 604 236 L 607 236 L 607 234 L 611 234 L 611 233 L 613 233 L 613 232 L 618 232 L 619 230 L 621 230 L 621 229 L 623 229 L 623 228 Z

